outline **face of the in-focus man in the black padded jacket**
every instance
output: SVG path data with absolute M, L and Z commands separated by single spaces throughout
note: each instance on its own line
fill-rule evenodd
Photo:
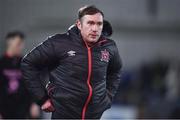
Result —
M 100 13 L 85 15 L 81 20 L 77 21 L 77 26 L 81 31 L 83 40 L 87 43 L 95 43 L 98 41 L 102 32 L 103 16 Z

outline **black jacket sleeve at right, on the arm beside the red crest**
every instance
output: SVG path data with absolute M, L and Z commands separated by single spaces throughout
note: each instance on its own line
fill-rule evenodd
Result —
M 113 55 L 110 58 L 107 69 L 106 90 L 111 101 L 119 87 L 122 62 L 119 56 L 118 48 L 114 42 Z

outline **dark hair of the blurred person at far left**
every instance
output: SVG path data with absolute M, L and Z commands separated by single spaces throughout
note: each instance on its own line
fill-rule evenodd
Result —
M 12 38 L 15 38 L 15 37 L 20 37 L 21 40 L 24 40 L 25 35 L 24 35 L 23 32 L 20 32 L 20 31 L 12 31 L 12 32 L 7 33 L 5 39 L 9 40 L 9 39 L 12 39 Z

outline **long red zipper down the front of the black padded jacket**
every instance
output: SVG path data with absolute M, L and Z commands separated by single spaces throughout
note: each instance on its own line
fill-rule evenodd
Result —
M 92 52 L 91 52 L 91 48 L 88 47 L 88 45 L 86 44 L 87 50 L 88 50 L 88 77 L 87 77 L 87 85 L 88 85 L 88 90 L 89 90 L 89 95 L 88 98 L 83 106 L 83 110 L 82 110 L 82 120 L 85 120 L 85 116 L 86 116 L 86 110 L 87 110 L 87 106 L 91 100 L 92 97 L 92 86 L 90 84 L 90 80 L 91 80 L 91 73 L 92 73 Z

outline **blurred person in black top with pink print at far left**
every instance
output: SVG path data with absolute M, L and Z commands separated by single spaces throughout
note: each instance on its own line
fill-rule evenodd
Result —
M 0 58 L 0 116 L 6 118 L 37 118 L 37 105 L 32 103 L 25 88 L 20 70 L 24 34 L 13 31 L 7 34 L 6 51 Z M 32 114 L 31 114 L 32 113 Z

